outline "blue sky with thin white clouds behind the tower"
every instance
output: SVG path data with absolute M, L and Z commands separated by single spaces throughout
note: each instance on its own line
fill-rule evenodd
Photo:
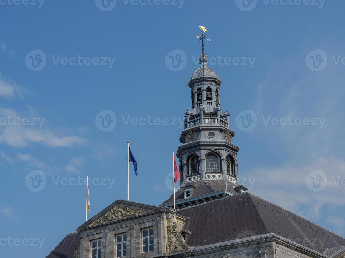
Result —
M 339 0 L 1 0 L 0 245 L 46 257 L 127 198 L 172 194 L 198 26 L 248 192 L 345 237 Z

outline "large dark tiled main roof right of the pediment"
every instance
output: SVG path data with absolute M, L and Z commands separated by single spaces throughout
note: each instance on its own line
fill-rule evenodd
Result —
M 345 239 L 255 195 L 244 193 L 179 209 L 189 217 L 189 246 L 216 244 L 248 236 L 274 233 L 318 252 L 345 245 Z M 204 222 L 200 226 L 200 221 Z M 310 240 L 302 241 L 303 239 Z M 314 243 L 314 239 L 316 239 Z M 324 245 L 321 243 L 324 241 Z

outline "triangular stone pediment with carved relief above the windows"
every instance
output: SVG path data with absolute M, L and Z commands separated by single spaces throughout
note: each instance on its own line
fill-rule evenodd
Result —
M 81 225 L 79 229 L 97 227 L 103 224 L 117 222 L 159 210 L 161 210 L 161 207 L 158 206 L 118 200 L 109 205 L 107 208 L 103 209 L 103 211 L 98 213 L 96 216 L 89 219 L 86 223 Z

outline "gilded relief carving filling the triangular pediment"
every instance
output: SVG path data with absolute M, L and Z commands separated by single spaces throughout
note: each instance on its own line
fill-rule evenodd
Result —
M 97 221 L 92 222 L 88 227 L 94 227 L 104 223 L 118 221 L 120 219 L 139 216 L 146 214 L 147 212 L 147 210 L 120 203 L 112 207 L 110 211 L 97 219 Z

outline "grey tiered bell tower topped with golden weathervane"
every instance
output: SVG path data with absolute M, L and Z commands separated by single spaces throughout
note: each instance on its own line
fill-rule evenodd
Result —
M 206 31 L 205 27 L 203 32 Z M 201 32 L 199 41 L 206 34 Z M 207 39 L 209 41 L 209 39 Z M 180 162 L 181 188 L 176 192 L 176 204 L 185 207 L 207 202 L 215 198 L 243 193 L 247 189 L 239 185 L 237 152 L 233 144 L 235 132 L 229 127 L 229 111 L 220 108 L 218 74 L 207 66 L 208 56 L 199 56 L 200 67 L 190 77 L 191 110 L 184 116 L 181 145 L 176 156 Z M 163 205 L 171 206 L 173 197 Z

